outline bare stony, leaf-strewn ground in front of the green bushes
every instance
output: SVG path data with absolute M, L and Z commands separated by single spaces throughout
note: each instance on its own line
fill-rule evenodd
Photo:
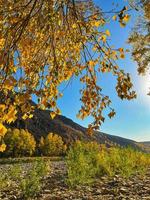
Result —
M 144 176 L 136 175 L 128 180 L 119 176 L 102 177 L 90 186 L 69 189 L 64 162 L 52 162 L 51 169 L 37 200 L 150 200 L 150 170 Z M 15 200 L 17 193 L 6 189 L 0 192 L 0 199 Z

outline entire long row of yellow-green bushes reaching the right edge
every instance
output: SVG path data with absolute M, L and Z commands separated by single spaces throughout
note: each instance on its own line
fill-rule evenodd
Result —
M 132 148 L 99 146 L 97 143 L 76 142 L 66 157 L 67 183 L 92 183 L 94 178 L 103 175 L 119 174 L 130 177 L 135 173 L 144 173 L 150 166 L 150 156 Z

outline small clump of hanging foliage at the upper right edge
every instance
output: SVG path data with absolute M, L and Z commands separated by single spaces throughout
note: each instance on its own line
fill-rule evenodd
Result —
M 133 47 L 132 57 L 137 62 L 138 73 L 144 75 L 150 67 L 150 1 L 139 2 L 137 7 L 142 9 L 143 14 L 138 18 L 128 42 Z

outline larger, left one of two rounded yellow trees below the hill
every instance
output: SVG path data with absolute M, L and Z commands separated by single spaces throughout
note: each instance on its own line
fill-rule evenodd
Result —
M 8 156 L 31 156 L 35 152 L 36 142 L 27 130 L 9 129 L 4 137 L 5 154 Z

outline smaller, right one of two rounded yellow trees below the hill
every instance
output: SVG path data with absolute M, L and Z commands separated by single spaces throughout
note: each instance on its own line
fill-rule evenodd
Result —
M 60 156 L 66 151 L 62 137 L 53 133 L 49 133 L 46 138 L 41 137 L 39 148 L 44 156 Z

